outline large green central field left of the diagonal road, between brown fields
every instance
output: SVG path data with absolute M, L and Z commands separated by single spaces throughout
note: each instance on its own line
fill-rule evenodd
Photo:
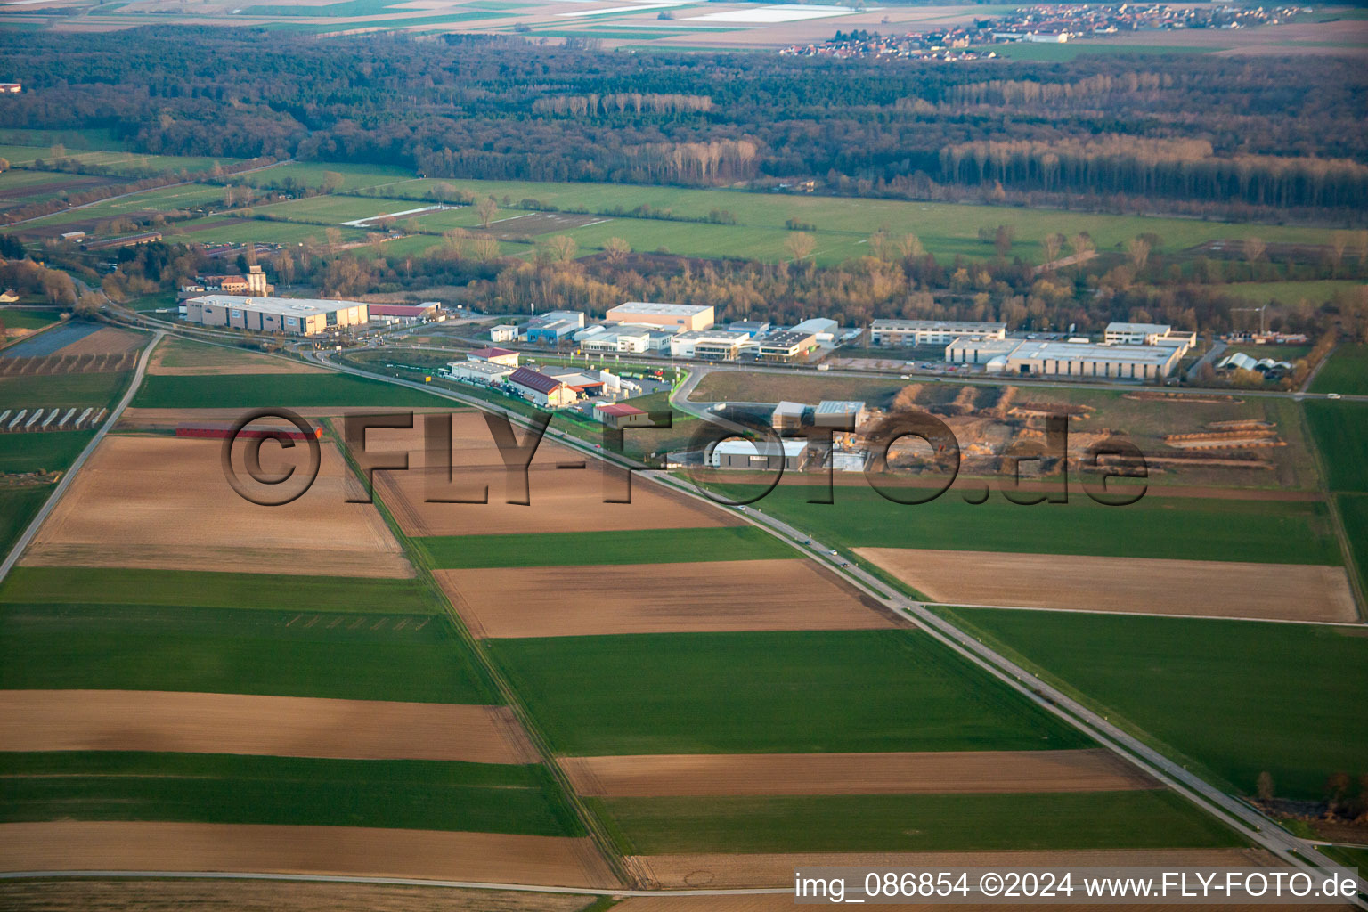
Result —
M 557 753 L 1008 751 L 1088 738 L 912 630 L 486 640 Z

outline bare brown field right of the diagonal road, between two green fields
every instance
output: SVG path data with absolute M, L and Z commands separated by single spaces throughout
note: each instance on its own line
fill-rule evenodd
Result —
M 855 548 L 932 602 L 1280 621 L 1356 621 L 1343 567 Z

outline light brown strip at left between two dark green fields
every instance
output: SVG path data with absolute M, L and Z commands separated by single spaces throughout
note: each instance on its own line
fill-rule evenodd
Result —
M 163 690 L 0 690 L 0 751 L 536 762 L 506 707 Z

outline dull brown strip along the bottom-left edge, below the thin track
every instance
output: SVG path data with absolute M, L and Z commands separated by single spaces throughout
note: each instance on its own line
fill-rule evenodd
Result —
M 25 881 L 0 883 L 10 912 L 577 912 L 573 893 L 269 881 Z M 695 907 L 702 909 L 702 907 Z

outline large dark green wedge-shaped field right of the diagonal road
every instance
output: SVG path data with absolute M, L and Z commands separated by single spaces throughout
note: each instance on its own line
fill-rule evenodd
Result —
M 1066 611 L 941 608 L 964 630 L 1122 716 L 1216 783 L 1319 800 L 1334 773 L 1368 773 L 1358 629 Z

